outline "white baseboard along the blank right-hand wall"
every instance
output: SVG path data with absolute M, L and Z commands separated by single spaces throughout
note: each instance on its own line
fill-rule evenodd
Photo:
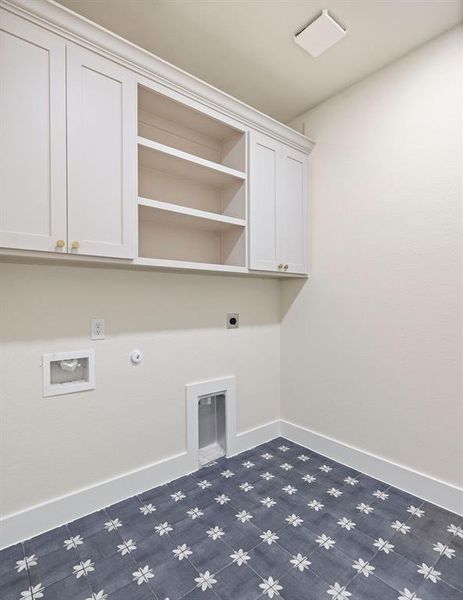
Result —
M 409 494 L 463 514 L 462 488 L 288 421 L 280 421 L 280 435 Z

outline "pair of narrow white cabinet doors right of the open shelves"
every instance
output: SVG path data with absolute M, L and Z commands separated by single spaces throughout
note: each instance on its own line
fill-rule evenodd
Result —
M 307 155 L 251 134 L 250 268 L 306 274 Z

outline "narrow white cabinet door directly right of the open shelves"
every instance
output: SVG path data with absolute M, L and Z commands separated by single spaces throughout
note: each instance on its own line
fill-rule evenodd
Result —
M 251 133 L 249 184 L 249 254 L 251 269 L 278 271 L 277 198 L 280 144 Z

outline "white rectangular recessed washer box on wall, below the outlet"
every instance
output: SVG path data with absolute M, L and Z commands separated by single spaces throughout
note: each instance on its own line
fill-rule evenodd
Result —
M 44 354 L 42 382 L 44 398 L 95 389 L 95 351 Z

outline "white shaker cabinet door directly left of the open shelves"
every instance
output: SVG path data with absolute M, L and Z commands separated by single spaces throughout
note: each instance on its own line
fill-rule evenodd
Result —
M 136 83 L 93 52 L 67 48 L 70 252 L 136 256 Z

